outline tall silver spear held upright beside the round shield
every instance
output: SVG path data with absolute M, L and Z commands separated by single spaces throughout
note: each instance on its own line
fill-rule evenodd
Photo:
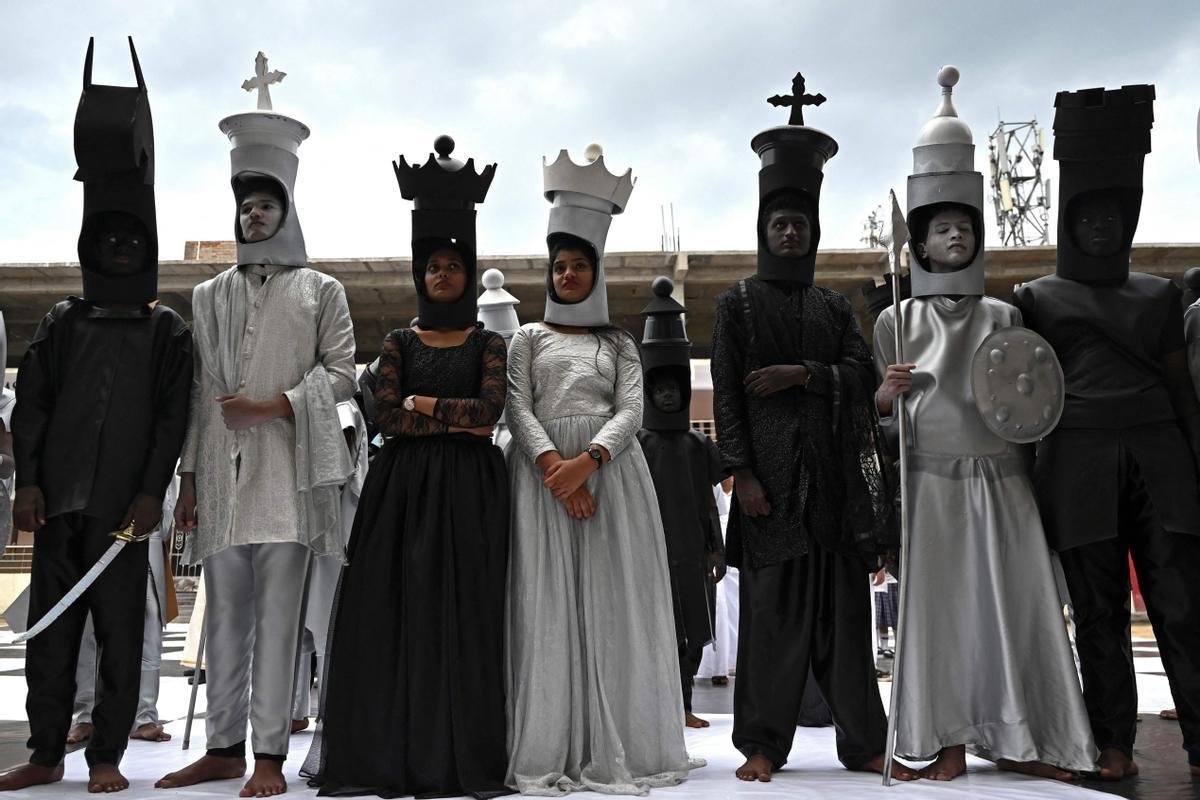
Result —
M 905 222 L 904 212 L 896 201 L 895 191 L 889 192 L 892 199 L 892 221 L 880 241 L 888 247 L 888 272 L 892 275 L 892 308 L 895 317 L 895 351 L 896 363 L 904 363 L 904 317 L 900 308 L 900 251 L 908 241 L 908 225 Z M 904 631 L 907 627 L 905 620 L 905 594 L 908 588 L 908 421 L 904 410 L 904 395 L 896 396 L 895 408 L 896 426 L 900 434 L 900 609 L 896 624 L 895 656 L 892 660 L 892 696 L 888 703 L 888 738 L 883 751 L 883 786 L 892 786 L 892 760 L 894 758 L 896 744 L 896 706 L 900 697 L 900 648 L 904 640 Z

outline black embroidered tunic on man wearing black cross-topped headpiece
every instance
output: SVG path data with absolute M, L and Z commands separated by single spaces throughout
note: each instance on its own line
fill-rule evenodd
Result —
M 728 561 L 737 567 L 743 561 L 754 567 L 786 561 L 808 552 L 810 536 L 829 549 L 852 553 L 840 535 L 846 482 L 834 431 L 834 407 L 847 393 L 835 391 L 833 367 L 874 391 L 871 353 L 841 294 L 758 278 L 744 283 L 749 308 L 738 284 L 716 299 L 716 446 L 726 469 L 754 471 L 770 515 L 742 516 L 734 493 L 726 530 Z M 746 374 L 772 365 L 804 365 L 811 375 L 808 386 L 768 397 L 748 393 Z

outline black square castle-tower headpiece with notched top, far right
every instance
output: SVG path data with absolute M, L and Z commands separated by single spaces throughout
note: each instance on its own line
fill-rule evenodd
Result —
M 1141 173 L 1154 125 L 1154 86 L 1061 91 L 1054 104 L 1054 157 L 1058 162 L 1055 272 L 1084 283 L 1124 281 L 1141 213 Z M 1072 235 L 1072 211 L 1084 196 L 1102 191 L 1111 192 L 1120 204 L 1124 236 L 1116 253 L 1087 255 Z

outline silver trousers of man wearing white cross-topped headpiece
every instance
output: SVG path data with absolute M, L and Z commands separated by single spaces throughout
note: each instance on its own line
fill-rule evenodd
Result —
M 209 748 L 246 740 L 286 756 L 310 551 L 294 542 L 235 545 L 204 559 Z

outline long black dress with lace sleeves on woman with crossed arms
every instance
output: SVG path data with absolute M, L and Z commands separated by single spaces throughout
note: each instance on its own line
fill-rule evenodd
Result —
M 504 341 L 384 339 L 371 464 L 330 631 L 325 718 L 305 763 L 323 795 L 490 798 L 504 770 L 508 474 L 486 438 L 504 408 Z M 439 397 L 434 417 L 403 409 Z

